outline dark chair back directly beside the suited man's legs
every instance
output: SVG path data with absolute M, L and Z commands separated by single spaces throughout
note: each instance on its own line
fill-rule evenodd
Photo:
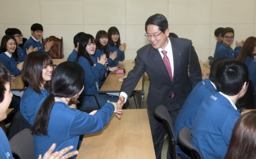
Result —
M 171 120 L 171 117 L 167 108 L 164 105 L 159 105 L 158 107 L 156 107 L 154 111 L 154 115 L 156 115 L 156 117 L 160 118 L 163 121 L 166 131 L 168 133 L 169 152 L 170 152 L 171 158 L 172 159 L 180 158 L 176 150 L 176 145 L 178 145 L 178 142 L 175 139 L 175 135 L 173 131 L 173 122 Z

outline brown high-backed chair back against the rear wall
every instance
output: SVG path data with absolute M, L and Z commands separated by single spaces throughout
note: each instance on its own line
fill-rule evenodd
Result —
M 43 39 L 42 37 L 42 44 L 43 44 L 43 48 L 45 48 L 45 43 L 50 40 L 50 41 L 54 41 L 53 46 L 50 49 L 49 52 L 49 56 L 51 58 L 63 58 L 64 54 L 63 54 L 63 39 L 59 39 L 58 37 L 55 36 L 50 36 L 47 37 L 45 39 Z

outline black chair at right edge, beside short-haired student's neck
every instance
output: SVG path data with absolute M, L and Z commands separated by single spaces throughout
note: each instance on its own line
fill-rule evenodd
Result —
M 256 109 L 256 95 L 254 84 L 251 80 L 248 81 L 248 89 L 244 96 L 237 100 L 237 109 Z

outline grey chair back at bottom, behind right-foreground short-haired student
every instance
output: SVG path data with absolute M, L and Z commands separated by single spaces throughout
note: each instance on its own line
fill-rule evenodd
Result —
M 181 145 L 190 150 L 190 156 L 192 159 L 201 159 L 200 152 L 190 143 L 191 130 L 188 127 L 184 127 L 178 133 L 178 141 Z

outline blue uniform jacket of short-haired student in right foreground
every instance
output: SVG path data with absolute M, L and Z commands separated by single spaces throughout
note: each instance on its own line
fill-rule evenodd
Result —
M 219 92 L 206 98 L 197 111 L 191 135 L 191 143 L 203 159 L 223 159 L 235 123 L 241 114 Z

